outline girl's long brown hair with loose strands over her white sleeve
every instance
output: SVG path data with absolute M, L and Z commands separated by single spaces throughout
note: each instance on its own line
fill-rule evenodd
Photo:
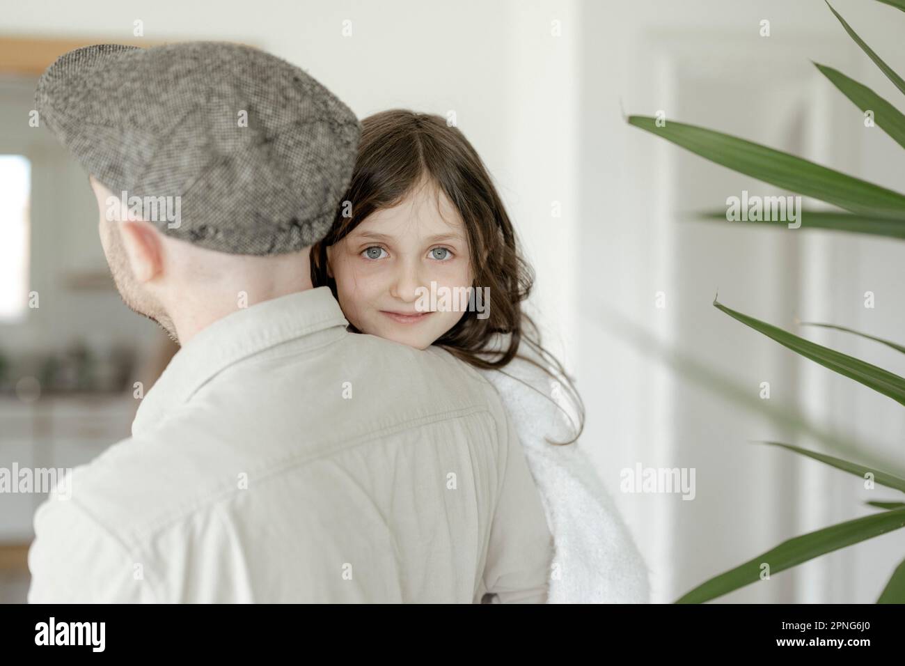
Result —
M 329 286 L 337 296 L 336 283 L 328 271 L 327 247 L 342 240 L 376 210 L 393 208 L 424 179 L 433 180 L 439 188 L 438 196 L 442 190 L 462 217 L 471 252 L 472 286 L 490 287 L 491 298 L 486 304 L 488 317 L 479 319 L 469 309 L 433 344 L 485 370 L 502 372 L 519 356 L 560 381 L 578 414 L 576 435 L 566 442 L 548 441 L 576 441 L 584 430 L 584 403 L 574 380 L 541 345 L 538 326 L 521 308 L 534 284 L 534 271 L 521 256 L 515 229 L 481 158 L 462 131 L 441 116 L 393 109 L 362 121 L 351 183 L 327 236 L 311 247 L 311 282 Z M 494 333 L 510 333 L 509 344 L 488 352 L 485 347 Z M 520 354 L 522 342 L 547 365 Z

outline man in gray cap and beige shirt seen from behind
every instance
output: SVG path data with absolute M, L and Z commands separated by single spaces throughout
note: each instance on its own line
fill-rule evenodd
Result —
M 538 491 L 491 385 L 312 289 L 360 126 L 228 43 L 102 44 L 38 111 L 90 173 L 119 293 L 181 349 L 132 436 L 34 519 L 35 602 L 544 602 Z

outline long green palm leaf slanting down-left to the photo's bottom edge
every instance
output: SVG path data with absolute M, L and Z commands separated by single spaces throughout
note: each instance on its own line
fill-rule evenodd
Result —
M 905 508 L 855 518 L 839 525 L 824 527 L 816 532 L 784 541 L 743 565 L 711 578 L 681 596 L 675 603 L 703 603 L 729 594 L 760 580 L 761 565 L 769 565 L 770 575 L 795 565 L 844 548 L 846 545 L 880 536 L 905 526 Z

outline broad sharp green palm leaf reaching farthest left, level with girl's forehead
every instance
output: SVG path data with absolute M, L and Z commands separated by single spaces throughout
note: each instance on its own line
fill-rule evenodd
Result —
M 905 219 L 905 196 L 834 169 L 752 141 L 670 121 L 657 127 L 648 116 L 629 116 L 629 124 L 672 141 L 711 162 L 859 215 Z

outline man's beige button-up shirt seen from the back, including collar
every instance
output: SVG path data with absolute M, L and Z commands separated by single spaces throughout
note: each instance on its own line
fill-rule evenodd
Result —
M 347 325 L 320 287 L 198 333 L 39 507 L 28 601 L 544 602 L 552 536 L 491 384 Z

